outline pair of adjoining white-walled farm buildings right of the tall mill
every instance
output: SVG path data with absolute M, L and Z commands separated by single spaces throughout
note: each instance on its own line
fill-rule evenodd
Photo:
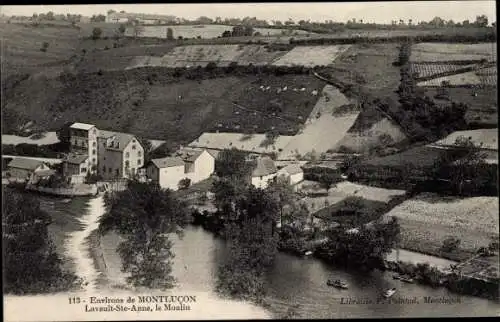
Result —
M 172 157 L 153 159 L 146 176 L 164 189 L 177 190 L 179 182 L 189 179 L 194 184 L 208 179 L 215 168 L 215 158 L 207 150 L 183 148 Z

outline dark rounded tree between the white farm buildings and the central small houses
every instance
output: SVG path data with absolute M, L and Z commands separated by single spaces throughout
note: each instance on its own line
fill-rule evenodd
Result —
M 246 161 L 247 153 L 241 150 L 225 149 L 215 160 L 215 173 L 219 177 L 241 180 L 251 171 L 251 165 Z

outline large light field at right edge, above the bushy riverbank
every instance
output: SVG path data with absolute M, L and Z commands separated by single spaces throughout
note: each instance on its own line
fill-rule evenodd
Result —
M 399 218 L 402 248 L 439 253 L 449 236 L 461 240 L 460 248 L 473 252 L 498 237 L 498 198 L 444 198 L 421 194 L 392 209 L 385 216 Z

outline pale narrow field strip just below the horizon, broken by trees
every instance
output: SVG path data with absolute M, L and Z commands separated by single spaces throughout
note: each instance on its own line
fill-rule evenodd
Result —
M 217 38 L 226 30 L 231 31 L 233 26 L 226 25 L 198 25 L 198 26 L 145 26 L 141 37 L 167 38 L 167 29 L 172 28 L 174 38 Z M 286 30 L 273 28 L 254 28 L 254 32 L 259 32 L 262 36 L 279 36 L 285 34 L 310 34 L 303 30 Z M 133 29 L 129 28 L 126 35 L 133 35 Z

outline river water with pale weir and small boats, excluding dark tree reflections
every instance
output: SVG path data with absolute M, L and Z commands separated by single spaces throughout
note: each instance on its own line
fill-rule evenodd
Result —
M 55 203 L 57 211 L 54 216 L 66 216 L 68 218 L 76 215 L 75 208 L 81 209 L 81 224 L 77 232 L 66 234 L 66 249 L 71 250 L 67 255 L 73 258 L 77 274 L 84 275 L 90 285 L 96 280 L 97 272 L 89 266 L 89 253 L 85 249 L 85 235 L 96 228 L 95 220 L 102 213 L 102 198 L 74 199 L 68 204 L 61 205 L 60 201 L 51 199 Z M 42 204 L 44 204 L 42 198 Z M 45 208 L 45 207 L 44 207 Z M 63 214 L 63 208 L 68 213 Z M 50 212 L 50 209 L 47 209 Z M 63 222 L 67 222 L 64 220 Z M 57 225 L 56 220 L 56 225 Z M 75 225 L 68 225 L 74 229 Z M 54 229 L 57 231 L 57 229 Z M 201 227 L 189 226 L 185 229 L 182 239 L 174 239 L 173 275 L 178 285 L 175 290 L 182 292 L 195 292 L 197 294 L 210 294 L 213 305 L 227 304 L 214 293 L 217 265 L 225 257 L 224 242 L 215 238 L 211 233 L 204 231 Z M 107 275 L 113 280 L 113 284 L 123 283 L 123 274 L 119 273 L 119 258 L 114 252 L 118 243 L 116 235 L 107 235 L 102 239 L 104 257 L 107 264 Z M 82 246 L 83 245 L 83 246 Z M 403 251 L 400 256 L 411 260 L 412 252 Z M 426 258 L 432 264 L 434 258 L 426 255 L 415 254 L 415 258 Z M 438 262 L 444 265 L 446 262 Z M 80 271 L 83 270 L 83 271 Z M 255 308 L 249 303 L 238 303 L 239 310 L 247 310 L 251 317 L 263 317 L 270 315 L 282 317 L 293 311 L 296 318 L 383 318 L 383 317 L 457 317 L 457 316 L 496 316 L 500 312 L 500 305 L 486 299 L 460 296 L 449 292 L 445 288 L 431 288 L 417 284 L 404 284 L 393 280 L 390 272 L 373 272 L 360 274 L 336 269 L 326 265 L 314 258 L 298 258 L 295 256 L 279 253 L 275 265 L 269 271 L 266 278 L 268 281 L 267 308 Z M 349 284 L 348 290 L 338 290 L 328 287 L 326 280 L 339 278 Z M 418 304 L 376 303 L 381 292 L 387 288 L 397 288 L 393 300 L 417 299 Z M 424 303 L 424 297 L 454 298 L 460 301 L 455 304 Z M 351 298 L 364 304 L 342 304 L 341 298 Z M 227 305 L 226 305 L 227 306 Z M 213 308 L 212 308 L 213 309 Z M 252 313 L 250 313 L 252 312 Z

